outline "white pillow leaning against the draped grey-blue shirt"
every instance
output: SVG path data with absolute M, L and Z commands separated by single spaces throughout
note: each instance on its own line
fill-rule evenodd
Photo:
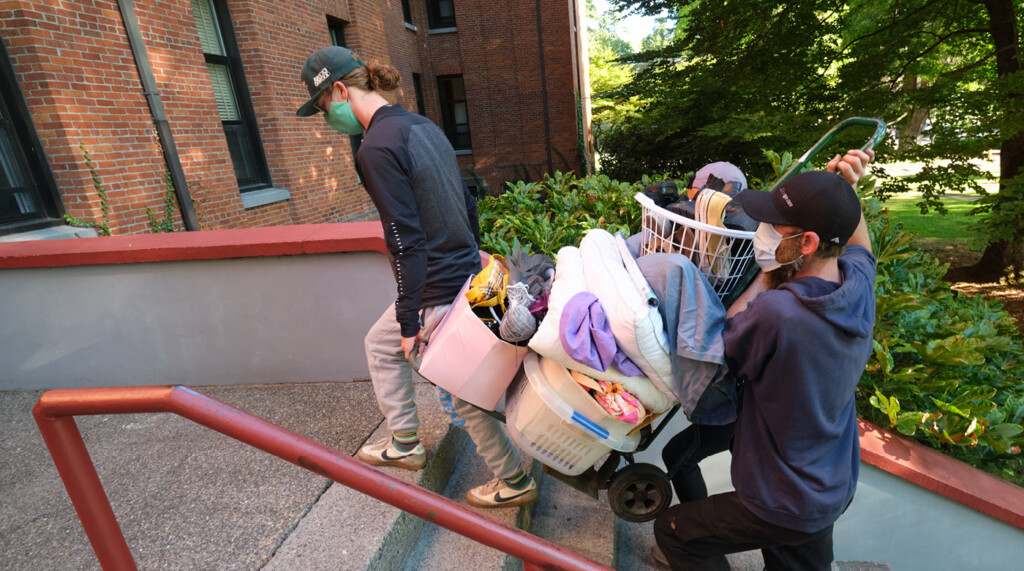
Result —
M 670 389 L 672 351 L 657 311 L 657 298 L 639 268 L 633 268 L 633 275 L 626 269 L 625 264 L 635 266 L 636 260 L 632 256 L 624 260 L 615 237 L 600 228 L 587 232 L 580 243 L 580 255 L 587 290 L 604 307 L 618 348 L 658 390 L 675 398 Z M 638 281 L 634 282 L 634 278 Z

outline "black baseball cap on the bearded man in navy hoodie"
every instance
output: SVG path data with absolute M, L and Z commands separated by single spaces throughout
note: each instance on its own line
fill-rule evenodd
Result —
M 839 246 L 845 246 L 860 224 L 857 191 L 842 176 L 825 171 L 801 173 L 771 192 L 748 190 L 737 197 L 759 222 L 799 226 Z

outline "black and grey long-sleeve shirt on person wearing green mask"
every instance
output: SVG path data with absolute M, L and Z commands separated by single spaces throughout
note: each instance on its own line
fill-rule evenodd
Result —
M 421 308 L 452 303 L 480 271 L 476 201 L 444 133 L 400 105 L 374 114 L 356 168 L 384 225 L 401 336 L 413 337 Z

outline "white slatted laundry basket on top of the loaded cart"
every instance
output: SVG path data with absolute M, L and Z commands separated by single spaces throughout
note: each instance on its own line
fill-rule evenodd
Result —
M 640 255 L 682 254 L 726 299 L 754 263 L 754 232 L 705 224 L 665 210 L 637 192 L 643 210 Z

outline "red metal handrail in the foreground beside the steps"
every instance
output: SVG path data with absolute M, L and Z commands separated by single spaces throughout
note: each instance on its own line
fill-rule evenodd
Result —
M 187 387 L 48 391 L 39 398 L 32 414 L 103 569 L 136 567 L 74 416 L 137 412 L 173 412 L 194 421 L 517 557 L 526 570 L 609 569 Z

